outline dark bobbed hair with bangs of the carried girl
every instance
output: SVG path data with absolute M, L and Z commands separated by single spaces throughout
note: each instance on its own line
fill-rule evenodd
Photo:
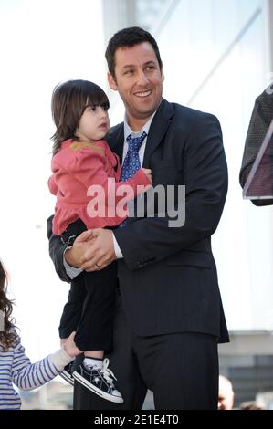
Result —
M 51 100 L 52 117 L 56 125 L 56 132 L 51 137 L 54 155 L 63 141 L 67 139 L 79 141 L 75 132 L 87 106 L 109 109 L 107 95 L 95 83 L 89 80 L 68 80 L 55 87 Z

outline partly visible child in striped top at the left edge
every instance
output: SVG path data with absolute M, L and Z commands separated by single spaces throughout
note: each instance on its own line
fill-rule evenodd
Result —
M 20 396 L 13 383 L 24 391 L 42 386 L 79 354 L 73 332 L 59 351 L 31 363 L 16 333 L 11 314 L 12 302 L 6 297 L 6 274 L 0 261 L 0 410 L 18 410 L 21 407 Z

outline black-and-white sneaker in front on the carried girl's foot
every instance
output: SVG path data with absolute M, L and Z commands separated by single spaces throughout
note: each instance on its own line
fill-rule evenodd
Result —
M 87 387 L 89 391 L 98 394 L 101 398 L 107 399 L 112 403 L 123 403 L 121 393 L 117 391 L 113 383 L 113 379 L 117 379 L 108 368 L 108 365 L 109 359 L 102 361 L 102 368 L 81 363 L 78 370 L 73 372 L 73 377 Z

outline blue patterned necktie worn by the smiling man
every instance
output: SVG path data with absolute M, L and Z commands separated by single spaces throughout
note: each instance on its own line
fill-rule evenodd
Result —
M 131 134 L 127 137 L 128 141 L 128 151 L 126 153 L 124 162 L 121 167 L 121 181 L 130 179 L 138 170 L 141 168 L 141 160 L 139 155 L 139 150 L 142 146 L 142 142 L 147 136 L 146 132 L 143 131 L 142 135 L 139 137 L 131 137 Z M 133 200 L 129 201 L 128 208 L 130 211 L 130 206 L 133 206 Z M 118 227 L 122 228 L 128 222 L 128 219 L 125 219 Z

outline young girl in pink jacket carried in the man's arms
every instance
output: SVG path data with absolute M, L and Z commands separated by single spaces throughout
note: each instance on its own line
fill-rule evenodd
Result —
M 108 109 L 104 91 L 86 80 L 69 80 L 53 91 L 52 116 L 57 130 L 52 137 L 53 175 L 48 185 L 57 195 L 53 233 L 62 235 L 68 245 L 87 229 L 121 224 L 127 212 L 117 213 L 116 204 L 124 202 L 125 185 L 131 190 L 127 200 L 151 186 L 148 169 L 139 169 L 126 182 L 119 182 L 118 156 L 101 140 L 109 131 Z M 108 369 L 109 360 L 103 361 L 104 351 L 112 347 L 116 288 L 115 263 L 93 273 L 83 272 L 71 285 L 59 334 L 63 342 L 77 330 L 75 343 L 84 351 L 83 363 L 73 377 L 100 397 L 123 403 L 114 374 Z M 73 383 L 69 368 L 63 376 Z

